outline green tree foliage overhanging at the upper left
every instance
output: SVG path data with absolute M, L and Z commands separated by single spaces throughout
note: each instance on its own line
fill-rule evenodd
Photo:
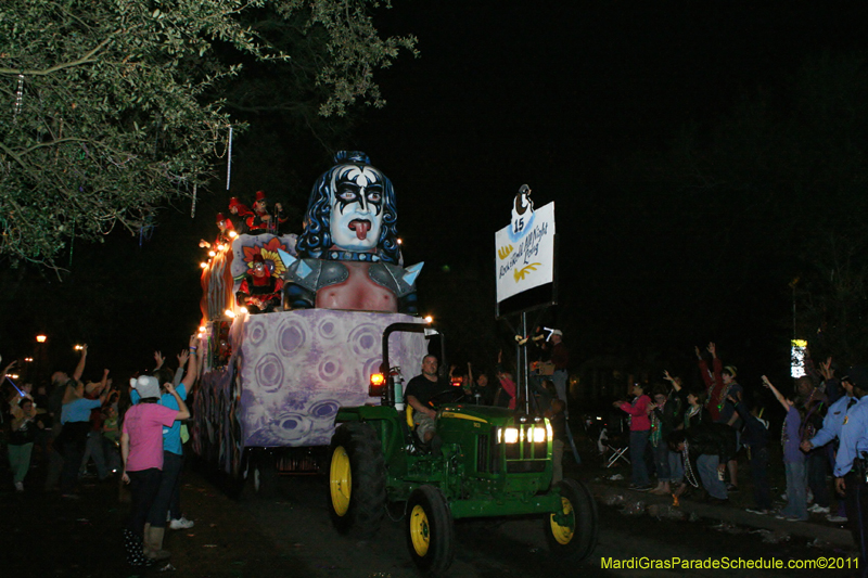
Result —
M 386 3 L 386 7 L 388 4 Z M 381 38 L 374 0 L 13 0 L 0 7 L 0 257 L 55 267 L 74 239 L 136 233 L 214 177 L 222 94 L 270 63 L 282 102 L 380 106 L 373 80 L 414 38 Z M 252 25 L 269 11 L 271 30 Z M 293 42 L 275 42 L 276 35 Z M 296 53 L 297 49 L 297 53 Z M 255 106 L 267 93 L 248 95 Z M 273 102 L 273 99 L 271 99 Z M 243 128 L 243 127 L 237 127 Z

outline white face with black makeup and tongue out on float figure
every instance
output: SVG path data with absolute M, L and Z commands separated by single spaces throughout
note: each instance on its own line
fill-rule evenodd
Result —
M 332 242 L 352 252 L 376 247 L 383 221 L 383 175 L 370 166 L 344 165 L 332 181 Z

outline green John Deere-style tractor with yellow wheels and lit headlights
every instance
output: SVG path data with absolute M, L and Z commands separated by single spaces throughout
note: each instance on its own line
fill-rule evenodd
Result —
M 455 519 L 539 514 L 554 553 L 575 562 L 589 556 L 597 543 L 597 506 L 582 483 L 551 483 L 548 420 L 462 403 L 456 397 L 460 388 L 450 388 L 438 396 L 442 446 L 432 451 L 401 410 L 399 372 L 388 371 L 388 335 L 395 331 L 436 334 L 414 323 L 390 325 L 383 335 L 384 380 L 371 386 L 382 403 L 339 410 L 329 449 L 335 528 L 370 537 L 387 504 L 404 502 L 410 555 L 421 570 L 439 574 L 455 555 Z

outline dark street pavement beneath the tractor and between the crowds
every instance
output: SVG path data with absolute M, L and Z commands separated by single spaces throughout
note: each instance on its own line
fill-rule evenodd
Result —
M 596 465 L 572 466 L 579 479 L 600 480 L 622 470 Z M 31 472 L 34 487 L 38 468 Z M 173 555 L 169 576 L 413 578 L 420 576 L 407 553 L 403 512 L 391 510 L 375 538 L 356 541 L 331 526 L 324 476 L 281 476 L 273 498 L 250 494 L 241 501 L 226 497 L 213 476 L 188 467 L 182 504 L 195 521 L 190 530 L 171 531 L 166 548 Z M 599 484 L 597 481 L 596 484 Z M 609 483 L 618 489 L 617 484 Z M 621 488 L 623 490 L 623 488 Z M 621 491 L 621 494 L 628 492 Z M 637 493 L 638 496 L 638 493 Z M 0 494 L 0 515 L 7 521 L 7 576 L 117 577 L 133 576 L 124 562 L 120 526 L 128 504 L 118 502 L 114 483 L 85 484 L 81 500 L 62 500 L 56 493 L 28 490 Z M 742 497 L 742 500 L 749 500 Z M 618 506 L 599 504 L 600 541 L 578 567 L 553 560 L 538 518 L 476 518 L 456 524 L 458 549 L 448 576 L 756 576 L 756 570 L 691 569 L 682 571 L 603 569 L 603 560 L 742 560 L 809 561 L 820 556 L 851 561 L 848 549 L 807 545 L 808 538 L 791 536 L 767 543 L 763 532 L 722 519 L 658 519 L 626 514 L 629 500 Z M 737 502 L 740 503 L 740 502 Z M 687 505 L 687 504 L 686 504 Z M 737 509 L 733 504 L 729 508 Z M 10 545 L 14 544 L 13 548 Z M 163 575 L 165 563 L 141 575 Z M 817 576 L 817 570 L 763 570 L 764 576 Z M 853 576 L 827 569 L 822 576 Z

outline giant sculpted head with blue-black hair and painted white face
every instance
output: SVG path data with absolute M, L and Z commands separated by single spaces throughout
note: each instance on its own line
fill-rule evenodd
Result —
M 399 261 L 395 191 L 361 152 L 341 151 L 314 184 L 298 236 L 299 256 Z

